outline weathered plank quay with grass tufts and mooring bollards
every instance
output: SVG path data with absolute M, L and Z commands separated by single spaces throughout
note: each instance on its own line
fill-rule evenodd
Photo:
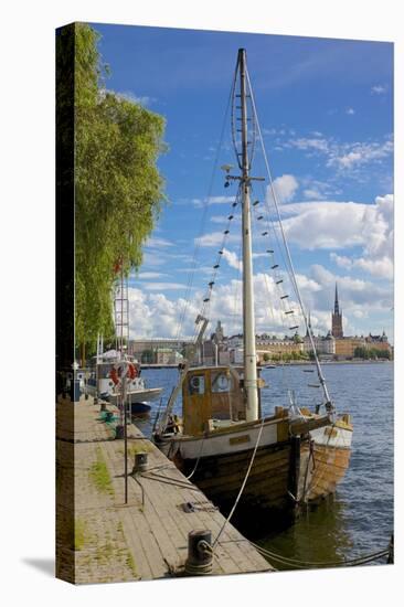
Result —
M 183 575 L 188 533 L 210 530 L 214 541 L 223 515 L 134 425 L 128 470 L 140 451 L 148 452 L 148 469 L 128 478 L 125 504 L 124 440 L 100 419 L 99 405 L 82 397 L 60 401 L 56 409 L 57 577 L 85 584 Z M 270 571 L 227 524 L 212 575 Z

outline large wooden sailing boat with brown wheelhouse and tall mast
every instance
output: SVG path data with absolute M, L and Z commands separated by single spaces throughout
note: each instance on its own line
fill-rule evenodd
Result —
M 349 465 L 352 426 L 347 414 L 337 414 L 329 396 L 295 276 L 323 402 L 310 412 L 291 401 L 287 407 L 276 407 L 274 415 L 262 416 L 264 382 L 257 371 L 255 349 L 249 192 L 252 181 L 263 178 L 249 174 L 247 126 L 257 121 L 257 117 L 254 103 L 253 115 L 248 116 L 247 99 L 251 104 L 253 94 L 243 49 L 237 55 L 233 99 L 233 107 L 240 110 L 240 116 L 233 116 L 233 124 L 238 120 L 236 124 L 241 125 L 241 148 L 237 149 L 234 136 L 233 141 L 241 174 L 231 175 L 231 167 L 224 169 L 226 182 L 238 182 L 241 191 L 244 364 L 242 368 L 184 364 L 153 438 L 224 513 L 237 503 L 235 517 L 238 524 L 247 526 L 251 521 L 262 520 L 262 514 L 266 522 L 278 520 L 279 515 L 289 518 L 298 504 L 332 493 Z M 286 241 L 285 245 L 294 274 Z M 196 321 L 202 322 L 198 345 L 208 320 L 200 316 Z M 173 406 L 181 392 L 180 418 L 173 415 Z

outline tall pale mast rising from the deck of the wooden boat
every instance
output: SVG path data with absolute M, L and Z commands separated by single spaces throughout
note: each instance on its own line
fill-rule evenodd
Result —
M 247 92 L 245 49 L 238 50 L 240 98 L 242 121 L 242 231 L 243 231 L 243 336 L 244 336 L 244 390 L 247 396 L 246 420 L 258 418 L 257 358 L 255 351 L 255 316 L 253 288 L 253 252 L 249 201 L 249 161 L 247 129 Z

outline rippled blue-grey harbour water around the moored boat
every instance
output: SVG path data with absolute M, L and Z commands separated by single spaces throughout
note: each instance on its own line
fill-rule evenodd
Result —
M 312 368 L 263 371 L 269 384 L 262 392 L 265 414 L 288 404 L 288 388 L 295 390 L 300 406 L 321 401 L 319 391 L 308 386 L 316 383 L 316 374 L 304 369 Z M 337 409 L 352 417 L 350 467 L 333 499 L 304 513 L 287 530 L 259 540 L 268 550 L 300 561 L 330 562 L 376 552 L 387 547 L 393 532 L 393 364 L 325 364 L 323 373 Z M 166 403 L 177 371 L 145 370 L 142 375 L 148 385 L 164 388 Z M 157 409 L 158 403 L 148 418 L 136 420 L 147 435 Z

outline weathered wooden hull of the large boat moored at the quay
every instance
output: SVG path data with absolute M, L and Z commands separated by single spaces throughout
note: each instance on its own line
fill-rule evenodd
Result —
M 262 525 L 263 521 L 269 528 L 281 520 L 289 523 L 299 505 L 333 493 L 349 466 L 351 435 L 352 429 L 338 428 L 337 424 L 259 447 L 236 508 L 235 524 L 246 529 L 249 523 Z M 201 440 L 209 438 L 200 438 L 202 448 L 193 447 L 193 452 L 203 452 Z M 253 450 L 249 446 L 232 452 L 183 457 L 190 452 L 185 445 L 184 449 L 178 448 L 176 455 L 172 450 L 171 458 L 185 476 L 193 472 L 192 482 L 227 514 L 244 481 Z

